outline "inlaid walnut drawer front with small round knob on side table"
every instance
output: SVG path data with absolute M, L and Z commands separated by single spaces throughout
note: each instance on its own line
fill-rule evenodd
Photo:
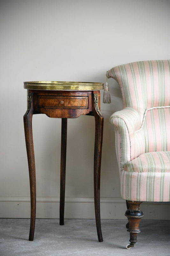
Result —
M 38 96 L 38 108 L 88 108 L 88 97 Z

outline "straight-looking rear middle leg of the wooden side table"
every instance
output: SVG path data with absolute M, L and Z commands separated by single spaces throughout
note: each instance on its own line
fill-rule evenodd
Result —
M 66 147 L 67 147 L 67 118 L 62 118 L 61 169 L 60 169 L 60 225 L 64 225 Z

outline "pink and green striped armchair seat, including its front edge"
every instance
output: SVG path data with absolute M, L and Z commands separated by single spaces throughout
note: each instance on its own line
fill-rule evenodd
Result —
M 129 201 L 170 202 L 170 151 L 145 153 L 125 164 L 121 194 Z

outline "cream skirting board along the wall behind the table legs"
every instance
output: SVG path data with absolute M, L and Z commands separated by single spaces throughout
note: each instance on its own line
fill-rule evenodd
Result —
M 58 197 L 37 197 L 36 218 L 58 219 Z M 146 220 L 169 220 L 170 203 L 142 203 Z M 126 219 L 126 202 L 121 198 L 100 198 L 101 219 Z M 29 197 L 0 197 L 0 218 L 30 218 Z M 95 219 L 94 199 L 65 198 L 65 219 Z

